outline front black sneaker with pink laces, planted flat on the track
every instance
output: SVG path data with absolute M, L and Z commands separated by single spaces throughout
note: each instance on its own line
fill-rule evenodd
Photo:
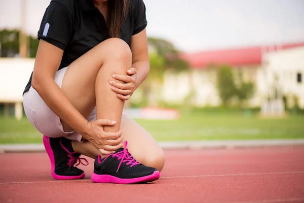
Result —
M 101 158 L 98 155 L 94 162 L 94 172 L 91 177 L 96 183 L 147 183 L 160 178 L 160 172 L 153 167 L 147 167 L 136 161 L 128 152 L 127 141 L 125 148 Z

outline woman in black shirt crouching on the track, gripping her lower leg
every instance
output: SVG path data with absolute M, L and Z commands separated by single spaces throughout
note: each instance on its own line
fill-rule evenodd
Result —
M 44 134 L 55 179 L 83 178 L 74 167 L 80 154 L 95 158 L 94 182 L 160 176 L 164 152 L 123 115 L 124 101 L 149 72 L 145 6 L 129 1 L 53 0 L 45 12 L 23 104 Z

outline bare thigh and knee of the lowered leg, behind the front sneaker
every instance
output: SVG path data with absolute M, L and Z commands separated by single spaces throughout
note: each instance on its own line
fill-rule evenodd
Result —
M 156 167 L 161 171 L 165 163 L 165 155 L 154 138 L 126 115 L 122 116 L 121 130 L 124 140 L 128 141 L 128 150 L 133 157 L 137 161 L 147 166 Z

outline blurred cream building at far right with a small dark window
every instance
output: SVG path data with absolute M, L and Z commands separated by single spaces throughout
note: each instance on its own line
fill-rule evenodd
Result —
M 304 46 L 295 47 L 263 56 L 264 95 L 273 100 L 287 99 L 287 107 L 304 109 Z

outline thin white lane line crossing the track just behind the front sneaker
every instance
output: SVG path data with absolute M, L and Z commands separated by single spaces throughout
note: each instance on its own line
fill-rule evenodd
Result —
M 276 172 L 276 173 L 248 173 L 248 174 L 221 174 L 221 175 L 201 175 L 201 176 L 172 176 L 172 177 L 161 177 L 160 179 L 170 178 L 198 178 L 198 177 L 229 177 L 229 176 L 256 176 L 256 175 L 279 175 L 279 174 L 304 174 L 304 171 L 297 172 Z M 0 183 L 4 184 L 26 184 L 26 183 L 60 183 L 60 182 L 89 182 L 90 179 L 83 180 L 57 180 L 57 181 L 29 181 L 29 182 L 7 182 Z

